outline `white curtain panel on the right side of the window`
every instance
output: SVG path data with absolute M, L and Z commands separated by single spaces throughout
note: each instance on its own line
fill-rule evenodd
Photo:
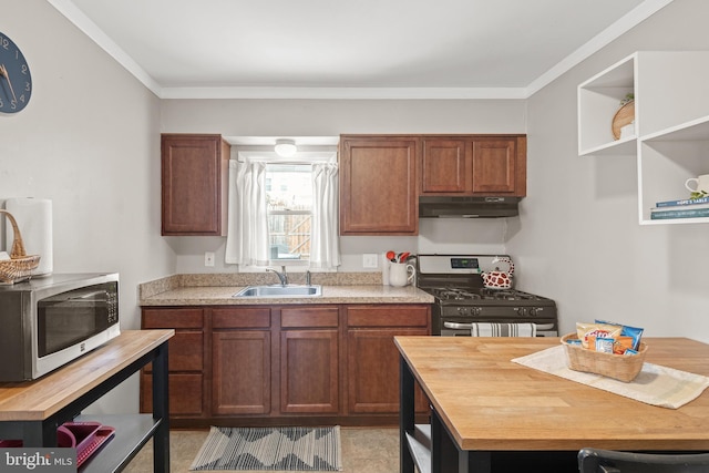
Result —
M 312 197 L 310 267 L 332 269 L 340 266 L 337 164 L 312 165 Z

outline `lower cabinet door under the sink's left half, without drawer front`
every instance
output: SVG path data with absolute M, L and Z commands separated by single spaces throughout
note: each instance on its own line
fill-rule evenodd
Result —
M 270 331 L 215 331 L 212 367 L 214 414 L 270 412 Z

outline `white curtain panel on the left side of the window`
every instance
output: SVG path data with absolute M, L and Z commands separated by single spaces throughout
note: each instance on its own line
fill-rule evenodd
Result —
M 229 161 L 229 218 L 225 263 L 268 266 L 266 163 Z

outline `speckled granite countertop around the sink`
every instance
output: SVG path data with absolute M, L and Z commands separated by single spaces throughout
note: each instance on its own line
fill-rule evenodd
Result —
M 175 275 L 138 286 L 142 307 L 223 306 L 280 304 L 432 304 L 433 296 L 414 287 L 381 284 L 380 273 L 312 274 L 322 286 L 320 297 L 232 297 L 246 286 L 274 284 L 273 274 Z M 291 284 L 304 284 L 305 275 L 289 275 Z

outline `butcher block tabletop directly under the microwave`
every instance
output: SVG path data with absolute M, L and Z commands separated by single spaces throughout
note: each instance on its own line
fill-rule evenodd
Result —
M 174 330 L 126 330 L 34 381 L 0 383 L 0 422 L 41 421 L 167 341 Z

